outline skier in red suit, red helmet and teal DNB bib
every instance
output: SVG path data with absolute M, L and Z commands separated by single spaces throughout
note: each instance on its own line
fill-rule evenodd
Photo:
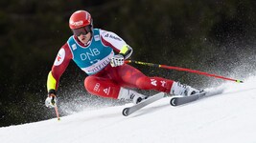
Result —
M 56 106 L 58 81 L 71 60 L 88 74 L 84 79 L 84 88 L 94 95 L 137 104 L 147 96 L 131 88 L 178 95 L 199 92 L 173 80 L 146 76 L 125 64 L 124 60 L 131 55 L 132 49 L 114 32 L 94 29 L 92 17 L 85 10 L 77 10 L 71 15 L 69 28 L 73 35 L 58 51 L 52 71 L 48 74 L 47 107 Z

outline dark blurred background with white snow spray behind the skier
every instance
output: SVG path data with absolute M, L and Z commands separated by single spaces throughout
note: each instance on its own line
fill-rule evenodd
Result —
M 94 28 L 121 36 L 134 50 L 131 59 L 238 79 L 255 74 L 255 0 L 9 0 L 0 8 L 0 127 L 56 117 L 44 106 L 47 74 L 76 10 L 89 11 Z M 133 66 L 199 89 L 225 82 Z M 61 76 L 61 115 L 124 104 L 87 93 L 86 76 L 74 62 Z

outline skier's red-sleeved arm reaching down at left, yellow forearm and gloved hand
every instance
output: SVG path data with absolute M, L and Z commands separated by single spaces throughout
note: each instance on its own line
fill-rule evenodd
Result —
M 45 100 L 47 107 L 53 108 L 56 106 L 56 94 L 58 90 L 58 81 L 63 72 L 65 72 L 70 60 L 72 59 L 72 53 L 68 47 L 68 44 L 62 46 L 58 51 L 58 55 L 52 67 L 52 71 L 48 73 L 47 77 L 47 91 L 48 97 Z

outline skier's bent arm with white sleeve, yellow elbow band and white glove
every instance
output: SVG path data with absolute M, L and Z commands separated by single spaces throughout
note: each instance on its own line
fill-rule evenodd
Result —
M 117 34 L 111 31 L 101 31 L 101 39 L 105 46 L 112 48 L 117 54 L 111 59 L 111 66 L 117 67 L 124 64 L 124 60 L 132 53 L 132 49 L 128 44 Z

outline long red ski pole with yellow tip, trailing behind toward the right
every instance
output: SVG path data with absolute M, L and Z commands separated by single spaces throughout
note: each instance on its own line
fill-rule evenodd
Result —
M 244 83 L 242 80 L 227 78 L 227 77 L 216 75 L 216 74 L 211 74 L 211 73 L 207 73 L 207 72 L 199 72 L 199 71 L 196 71 L 196 70 L 185 69 L 185 68 L 180 68 L 180 67 L 159 65 L 159 64 L 153 64 L 153 63 L 145 63 L 145 62 L 135 61 L 135 60 L 126 60 L 125 63 L 127 63 L 127 64 L 128 63 L 135 63 L 135 64 L 138 64 L 138 65 L 145 65 L 145 66 L 151 66 L 151 67 L 157 67 L 157 68 L 163 68 L 163 69 L 169 69 L 169 70 L 175 70 L 175 71 L 193 72 L 193 73 L 198 73 L 198 74 L 202 74 L 202 75 L 206 75 L 206 76 L 221 78 L 221 79 L 224 79 L 224 80 L 234 81 L 234 82 L 237 82 L 237 83 Z

